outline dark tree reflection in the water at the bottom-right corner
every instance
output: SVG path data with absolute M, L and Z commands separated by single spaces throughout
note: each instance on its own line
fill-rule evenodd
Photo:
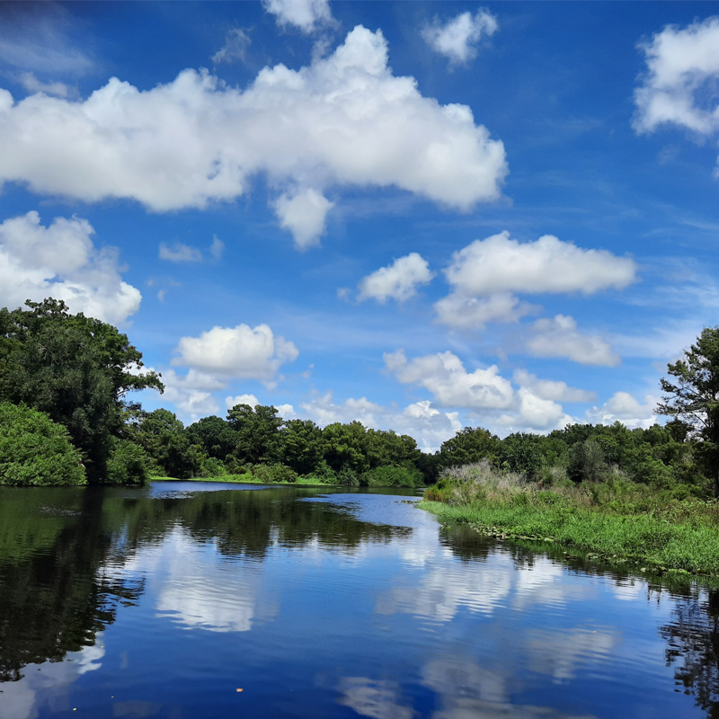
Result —
M 660 629 L 669 646 L 667 664 L 706 715 L 719 717 L 719 591 L 688 591 L 678 599 L 671 621 Z

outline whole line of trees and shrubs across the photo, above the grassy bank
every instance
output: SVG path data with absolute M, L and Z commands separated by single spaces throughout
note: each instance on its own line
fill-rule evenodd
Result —
M 545 484 L 621 476 L 681 494 L 719 494 L 719 329 L 706 329 L 662 379 L 661 426 L 573 424 L 500 439 L 466 427 L 424 453 L 395 431 L 360 422 L 324 428 L 283 420 L 273 406 L 236 404 L 185 427 L 129 398 L 164 390 L 111 324 L 62 301 L 0 309 L 0 484 L 144 484 L 247 475 L 263 482 L 420 486 L 443 469 L 488 461 Z

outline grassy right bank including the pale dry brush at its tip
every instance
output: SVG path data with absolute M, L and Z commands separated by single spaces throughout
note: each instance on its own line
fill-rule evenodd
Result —
M 488 536 L 549 540 L 651 572 L 719 577 L 716 502 L 679 501 L 633 483 L 546 489 L 484 468 L 440 480 L 420 506 Z

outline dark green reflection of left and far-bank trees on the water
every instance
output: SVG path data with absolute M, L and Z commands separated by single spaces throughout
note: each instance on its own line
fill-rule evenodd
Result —
M 411 531 L 359 521 L 326 502 L 297 502 L 312 490 L 12 492 L 0 494 L 0 681 L 94 644 L 118 605 L 136 602 L 143 591 L 117 568 L 175 528 L 215 543 L 223 555 L 259 560 L 275 542 L 353 552 Z

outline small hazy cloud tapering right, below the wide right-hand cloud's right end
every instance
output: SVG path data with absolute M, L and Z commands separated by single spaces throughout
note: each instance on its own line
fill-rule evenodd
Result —
M 527 347 L 537 357 L 566 357 L 581 365 L 616 367 L 622 360 L 598 334 L 582 334 L 568 315 L 540 319 L 532 327 Z

